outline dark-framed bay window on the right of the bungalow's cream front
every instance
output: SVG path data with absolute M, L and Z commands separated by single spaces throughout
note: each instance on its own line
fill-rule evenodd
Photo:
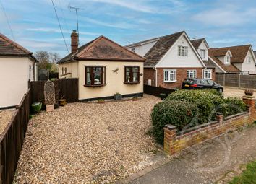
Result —
M 124 83 L 137 84 L 140 82 L 140 66 L 124 66 Z

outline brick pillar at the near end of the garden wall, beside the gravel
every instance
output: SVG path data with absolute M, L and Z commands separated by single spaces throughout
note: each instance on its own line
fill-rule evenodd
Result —
M 163 131 L 164 131 L 164 143 L 163 143 L 164 151 L 170 155 L 174 154 L 175 151 L 174 151 L 173 141 L 176 138 L 177 129 L 175 126 L 166 125 L 163 128 Z

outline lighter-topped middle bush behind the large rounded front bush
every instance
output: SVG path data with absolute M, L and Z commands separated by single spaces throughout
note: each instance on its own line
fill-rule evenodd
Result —
M 200 110 L 198 123 L 202 124 L 215 119 L 215 108 L 221 105 L 224 99 L 210 90 L 180 90 L 168 95 L 166 100 L 182 100 L 197 105 Z

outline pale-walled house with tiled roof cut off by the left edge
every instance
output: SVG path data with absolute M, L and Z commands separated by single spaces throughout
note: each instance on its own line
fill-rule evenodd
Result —
M 36 80 L 33 53 L 0 33 L 0 108 L 20 104 L 28 81 Z

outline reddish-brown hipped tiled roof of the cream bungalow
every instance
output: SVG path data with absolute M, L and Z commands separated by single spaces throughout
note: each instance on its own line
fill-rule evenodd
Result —
M 74 60 L 96 60 L 96 61 L 145 61 L 142 56 L 129 51 L 127 48 L 115 43 L 104 36 L 82 45 L 77 53 L 71 53 L 62 58 L 58 63 Z

